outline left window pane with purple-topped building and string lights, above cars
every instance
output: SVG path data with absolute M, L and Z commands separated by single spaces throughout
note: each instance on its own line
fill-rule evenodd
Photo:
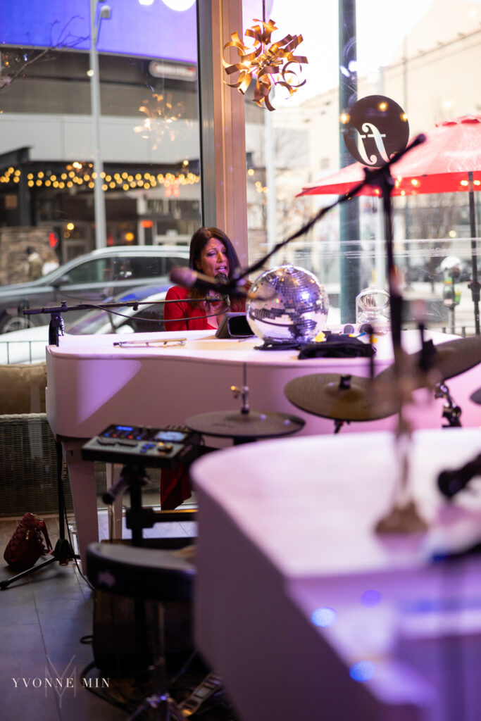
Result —
M 0 40 L 0 283 L 27 280 L 30 245 L 61 264 L 185 245 L 201 223 L 195 2 L 18 0 Z

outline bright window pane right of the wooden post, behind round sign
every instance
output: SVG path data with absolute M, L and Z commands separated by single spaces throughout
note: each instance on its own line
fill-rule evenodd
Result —
M 299 0 L 293 14 L 286 2 L 266 3 L 266 14 L 278 27 L 273 41 L 288 34 L 302 35 L 295 54 L 306 56 L 309 62 L 301 71 L 294 67 L 299 80 L 306 80 L 303 87 L 291 96 L 282 85 L 271 92 L 273 112 L 253 102 L 254 82 L 246 94 L 251 262 L 344 193 L 335 189 L 328 193 L 322 185 L 340 167 L 355 162 L 344 141 L 341 116 L 356 100 L 374 95 L 392 99 L 407 114 L 410 138 L 418 133 L 429 137 L 436 126 L 454 128 L 453 121 L 467 115 L 477 118 L 475 126 L 481 128 L 479 2 L 358 0 L 355 24 L 348 17 L 348 8 L 353 5 L 339 0 L 313 6 L 308 0 Z M 244 2 L 244 31 L 256 24 L 254 19 L 261 17 L 260 12 L 258 3 Z M 346 25 L 351 32 L 343 54 L 338 38 L 340 27 Z M 251 42 L 247 39 L 246 44 Z M 340 94 L 340 79 L 347 85 L 344 94 Z M 364 142 L 361 134 L 356 133 L 359 149 Z M 446 191 L 448 186 L 433 178 L 429 193 L 422 176 L 432 171 L 427 165 L 420 167 L 418 185 L 410 185 L 404 194 L 402 187 L 394 188 L 392 194 L 394 260 L 406 299 L 407 320 L 412 319 L 416 301 L 420 301 L 433 327 L 469 334 L 475 332 L 475 303 L 469 281 L 475 275 L 473 255 L 477 257 L 479 252 L 479 241 L 473 242 L 472 237 L 479 236 L 481 225 L 480 141 L 471 146 L 462 146 L 462 141 L 456 144 L 455 139 L 452 143 L 442 148 L 446 150 L 445 170 L 449 174 L 450 153 L 451 157 L 464 154 L 471 159 L 471 206 L 469 162 L 458 185 L 449 185 Z M 317 193 L 300 196 L 309 184 L 319 187 Z M 344 214 L 349 205 L 355 211 L 354 221 Z M 352 222 L 354 229 L 349 228 Z M 385 240 L 381 199 L 376 194 L 362 194 L 332 208 L 267 265 L 292 262 L 312 270 L 329 293 L 330 322 L 339 322 L 343 312 L 343 322 L 352 322 L 356 317 L 353 298 L 358 291 L 371 285 L 387 288 Z M 453 263 L 451 273 L 449 265 Z M 478 273 L 480 267 L 478 260 Z M 350 295 L 344 310 L 343 294 Z

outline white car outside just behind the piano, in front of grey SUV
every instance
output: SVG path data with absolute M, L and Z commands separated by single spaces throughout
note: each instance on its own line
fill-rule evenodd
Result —
M 144 286 L 112 302 L 144 301 L 148 305 L 124 306 L 110 311 L 94 309 L 72 321 L 70 313 L 64 314 L 64 332 L 68 335 L 91 335 L 94 333 L 148 333 L 164 330 L 164 301 L 172 283 L 164 286 Z M 110 302 L 110 301 L 109 301 Z M 45 322 L 45 315 L 42 316 Z M 48 345 L 49 324 L 15 330 L 0 335 L 0 363 L 36 363 L 45 361 Z

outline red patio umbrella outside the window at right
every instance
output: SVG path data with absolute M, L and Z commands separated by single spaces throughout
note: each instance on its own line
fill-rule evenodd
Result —
M 437 123 L 424 143 L 391 166 L 391 195 L 469 192 L 472 248 L 472 282 L 475 326 L 480 333 L 480 283 L 477 280 L 477 248 L 474 191 L 481 190 L 481 115 L 462 115 Z M 318 182 L 306 185 L 301 195 L 345 195 L 364 178 L 365 165 L 353 163 Z M 357 195 L 381 195 L 381 188 L 364 185 Z

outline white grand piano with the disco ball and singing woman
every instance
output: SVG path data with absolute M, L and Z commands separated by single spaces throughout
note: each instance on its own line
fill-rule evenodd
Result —
M 427 333 L 434 342 L 453 336 Z M 149 347 L 146 340 L 186 339 L 182 345 Z M 118 345 L 123 341 L 137 345 Z M 402 332 L 403 348 L 419 350 L 418 332 Z M 87 544 L 98 539 L 93 462 L 81 459 L 81 446 L 112 423 L 159 427 L 182 424 L 201 412 L 239 410 L 231 386 L 242 386 L 244 369 L 254 410 L 287 412 L 306 421 L 303 435 L 333 433 L 334 422 L 296 409 L 283 389 L 296 376 L 309 373 L 350 373 L 369 376 L 367 358 L 313 358 L 301 360 L 295 350 L 261 351 L 257 338 L 219 340 L 210 331 L 129 335 L 65 336 L 47 348 L 46 406 L 48 422 L 63 443 L 69 466 L 72 497 L 84 559 Z M 376 373 L 392 363 L 389 336 L 376 343 Z M 479 421 L 479 406 L 469 394 L 479 386 L 477 369 L 449 381 L 464 425 Z M 442 400 L 416 392 L 415 427 L 440 428 Z M 421 402 L 422 401 L 422 402 Z M 476 420 L 477 419 L 477 420 Z M 345 425 L 341 433 L 394 428 L 396 417 Z M 210 442 L 210 441 L 209 441 Z M 212 443 L 215 445 L 215 442 Z M 224 443 L 225 445 L 225 443 Z

